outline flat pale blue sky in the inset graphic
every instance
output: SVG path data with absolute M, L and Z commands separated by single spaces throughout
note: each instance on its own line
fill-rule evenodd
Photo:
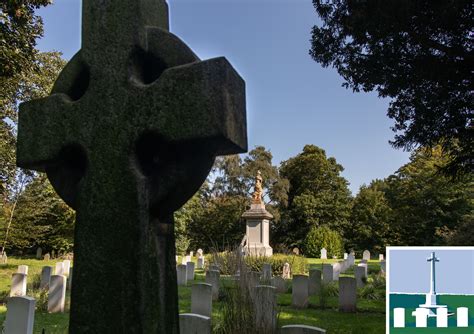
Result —
M 474 247 L 447 250 L 440 247 L 389 250 L 389 291 L 427 293 L 430 291 L 431 252 L 436 262 L 436 292 L 474 294 Z

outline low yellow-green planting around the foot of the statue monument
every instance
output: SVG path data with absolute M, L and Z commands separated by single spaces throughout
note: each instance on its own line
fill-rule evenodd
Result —
M 236 252 L 212 253 L 207 264 L 217 263 L 224 275 L 234 275 L 238 268 L 238 255 Z M 286 262 L 290 264 L 292 274 L 304 274 L 307 272 L 306 259 L 299 255 L 274 254 L 273 256 L 245 256 L 245 264 L 251 271 L 263 271 L 263 264 L 270 263 L 275 276 L 281 276 L 283 266 Z

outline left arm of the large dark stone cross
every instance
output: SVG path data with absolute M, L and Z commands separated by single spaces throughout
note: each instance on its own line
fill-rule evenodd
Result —
M 20 105 L 17 140 L 19 167 L 44 171 L 65 143 L 73 142 L 68 126 L 72 109 L 72 102 L 63 94 Z

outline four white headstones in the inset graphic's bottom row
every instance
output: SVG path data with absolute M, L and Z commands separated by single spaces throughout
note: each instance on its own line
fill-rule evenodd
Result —
M 428 326 L 428 313 L 427 308 L 417 308 L 413 312 L 415 315 L 416 327 L 427 327 Z M 456 310 L 456 324 L 457 327 L 468 327 L 469 322 L 469 310 L 467 307 L 458 307 Z M 405 309 L 403 307 L 397 307 L 393 309 L 393 327 L 405 328 Z M 445 307 L 438 308 L 436 310 L 436 327 L 448 327 L 448 309 Z

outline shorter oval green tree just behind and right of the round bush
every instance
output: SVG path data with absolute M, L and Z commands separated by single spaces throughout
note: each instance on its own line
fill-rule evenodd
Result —
M 381 181 L 360 187 L 351 210 L 351 225 L 347 238 L 349 246 L 355 250 L 368 249 L 384 253 L 391 236 L 392 210 L 379 189 Z

